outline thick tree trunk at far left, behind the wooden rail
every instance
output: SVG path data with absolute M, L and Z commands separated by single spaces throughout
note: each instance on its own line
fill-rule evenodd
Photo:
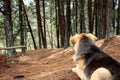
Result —
M 7 47 L 14 46 L 13 42 L 13 28 L 12 28 L 12 18 L 11 18 L 11 1 L 4 0 L 4 18 L 5 18 L 5 31 L 6 31 L 6 45 Z M 14 55 L 13 49 L 8 50 L 8 56 Z

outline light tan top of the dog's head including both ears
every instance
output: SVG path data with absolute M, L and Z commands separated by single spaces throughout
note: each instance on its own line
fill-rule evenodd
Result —
M 73 45 L 75 45 L 77 43 L 77 41 L 79 41 L 83 37 L 88 37 L 92 41 L 96 41 L 97 40 L 97 37 L 94 36 L 91 33 L 81 33 L 81 34 L 76 34 L 76 35 L 70 37 L 70 41 L 72 42 Z

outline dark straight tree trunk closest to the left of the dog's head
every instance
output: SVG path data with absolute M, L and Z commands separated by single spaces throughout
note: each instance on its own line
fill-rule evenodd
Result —
M 67 10 L 66 10 L 66 29 L 65 29 L 65 43 L 64 47 L 67 48 L 69 44 L 70 38 L 70 28 L 71 28 L 71 10 L 70 10 L 70 0 L 67 0 Z

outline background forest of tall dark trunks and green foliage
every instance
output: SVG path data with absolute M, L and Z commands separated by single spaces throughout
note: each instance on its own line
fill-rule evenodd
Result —
M 120 34 L 120 0 L 28 1 L 0 0 L 0 47 L 66 48 L 76 33 Z

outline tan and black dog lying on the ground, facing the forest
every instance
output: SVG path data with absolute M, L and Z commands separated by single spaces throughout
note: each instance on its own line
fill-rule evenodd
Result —
M 74 45 L 72 68 L 81 80 L 120 80 L 120 63 L 95 45 L 97 37 L 90 33 L 76 34 L 70 38 Z

